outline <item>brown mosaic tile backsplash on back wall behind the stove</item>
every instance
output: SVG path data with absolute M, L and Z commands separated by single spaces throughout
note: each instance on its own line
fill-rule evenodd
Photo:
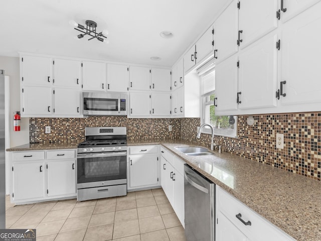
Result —
M 172 132 L 168 131 L 172 125 Z M 45 127 L 51 133 L 45 134 Z M 82 142 L 85 127 L 126 127 L 127 139 L 180 139 L 181 119 L 90 116 L 87 118 L 30 118 L 30 143 Z

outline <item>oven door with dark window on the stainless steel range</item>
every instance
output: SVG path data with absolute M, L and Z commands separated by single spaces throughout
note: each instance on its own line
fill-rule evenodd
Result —
M 77 158 L 77 183 L 126 178 L 126 156 Z

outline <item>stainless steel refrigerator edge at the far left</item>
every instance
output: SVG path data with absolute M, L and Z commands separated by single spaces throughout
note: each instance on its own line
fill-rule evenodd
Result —
M 0 228 L 6 228 L 5 73 L 0 70 Z

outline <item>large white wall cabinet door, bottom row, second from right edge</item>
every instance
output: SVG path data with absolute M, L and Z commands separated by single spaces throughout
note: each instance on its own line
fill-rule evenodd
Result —
M 277 40 L 272 34 L 239 55 L 240 109 L 276 106 Z

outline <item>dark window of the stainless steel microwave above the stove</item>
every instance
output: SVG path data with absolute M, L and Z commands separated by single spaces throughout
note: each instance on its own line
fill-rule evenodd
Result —
M 118 99 L 84 98 L 84 110 L 118 111 Z

